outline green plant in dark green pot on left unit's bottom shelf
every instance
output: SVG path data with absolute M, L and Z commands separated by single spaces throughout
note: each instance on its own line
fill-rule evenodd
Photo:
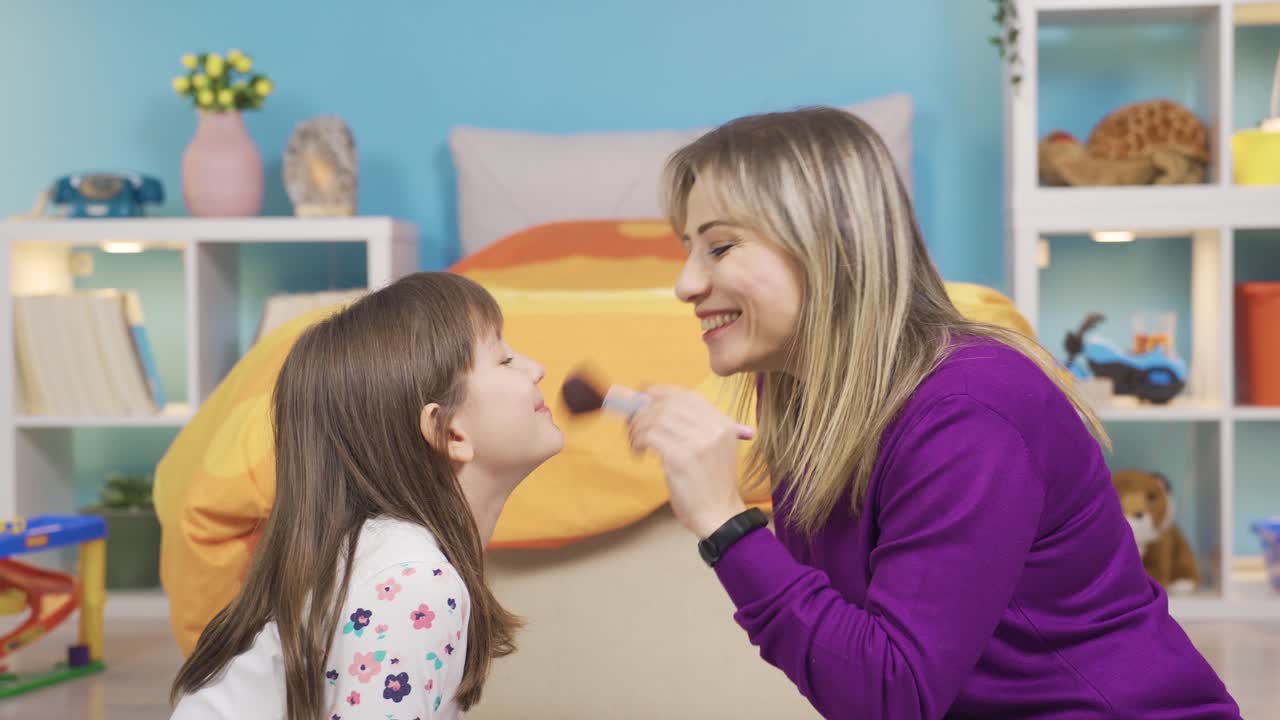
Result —
M 106 521 L 106 587 L 160 585 L 160 520 L 151 503 L 151 478 L 113 473 L 97 505 L 83 510 Z

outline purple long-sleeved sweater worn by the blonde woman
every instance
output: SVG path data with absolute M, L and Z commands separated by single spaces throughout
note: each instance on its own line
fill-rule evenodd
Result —
M 777 536 L 750 533 L 716 570 L 824 717 L 1239 717 L 1143 570 L 1098 443 L 1034 364 L 956 350 L 881 447 L 859 516 L 842 502 L 806 542 L 780 502 Z

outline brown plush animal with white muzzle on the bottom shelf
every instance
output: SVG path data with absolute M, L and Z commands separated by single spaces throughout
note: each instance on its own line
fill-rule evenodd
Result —
M 1185 593 L 1199 585 L 1196 553 L 1174 525 L 1174 496 L 1169 478 L 1148 470 L 1119 470 L 1111 482 L 1120 495 L 1142 564 L 1170 593 Z

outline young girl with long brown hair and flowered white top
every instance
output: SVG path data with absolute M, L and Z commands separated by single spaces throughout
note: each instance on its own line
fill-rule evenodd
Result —
M 175 719 L 457 717 L 517 619 L 484 544 L 563 437 L 497 302 L 419 273 L 314 325 L 274 395 L 276 497 L 239 596 L 173 685 Z

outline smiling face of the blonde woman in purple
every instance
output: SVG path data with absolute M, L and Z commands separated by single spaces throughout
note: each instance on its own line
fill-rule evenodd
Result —
M 718 375 L 787 372 L 800 323 L 804 275 L 780 246 L 718 217 L 704 183 L 689 193 L 689 252 L 676 295 L 694 306 Z

